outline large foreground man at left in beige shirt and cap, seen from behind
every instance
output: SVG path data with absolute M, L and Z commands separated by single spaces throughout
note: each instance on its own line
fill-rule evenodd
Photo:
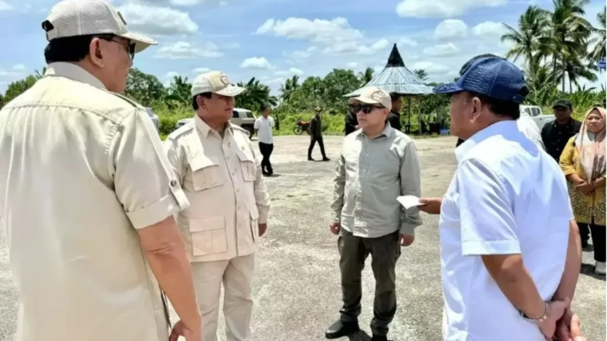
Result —
M 67 0 L 42 23 L 47 72 L 0 111 L 0 217 L 21 299 L 18 341 L 200 341 L 173 214 L 188 207 L 146 111 L 117 95 L 135 53 L 101 0 Z M 160 284 L 160 288 L 159 285 Z

